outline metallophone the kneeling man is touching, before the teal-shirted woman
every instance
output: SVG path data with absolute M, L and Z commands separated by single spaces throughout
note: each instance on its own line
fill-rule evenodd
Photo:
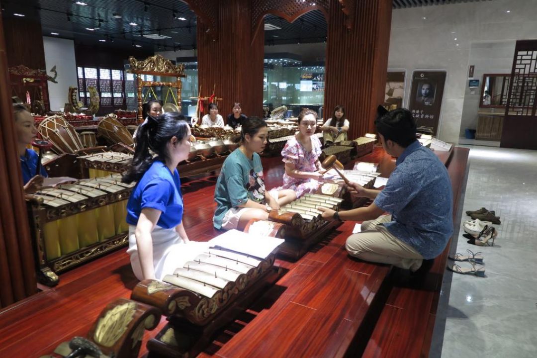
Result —
M 323 187 L 330 194 L 322 194 Z M 325 192 L 327 189 L 325 189 Z M 291 259 L 299 259 L 309 249 L 325 238 L 326 233 L 338 223 L 325 221 L 318 207 L 338 210 L 346 189 L 340 184 L 323 184 L 319 194 L 304 194 L 301 198 L 269 213 L 269 220 L 252 219 L 244 229 L 245 232 L 259 233 L 284 238 L 279 254 Z

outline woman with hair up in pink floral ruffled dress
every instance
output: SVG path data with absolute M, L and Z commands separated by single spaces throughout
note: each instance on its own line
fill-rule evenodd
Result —
M 321 141 L 313 136 L 317 127 L 317 113 L 304 108 L 299 114 L 299 132 L 285 144 L 281 151 L 285 163 L 284 185 L 275 190 L 291 189 L 294 198 L 304 193 L 314 193 L 321 185 Z

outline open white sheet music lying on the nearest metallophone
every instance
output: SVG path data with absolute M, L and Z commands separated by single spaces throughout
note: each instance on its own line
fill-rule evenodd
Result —
M 215 249 L 230 250 L 266 259 L 284 241 L 284 239 L 253 235 L 233 229 L 209 240 L 209 245 Z

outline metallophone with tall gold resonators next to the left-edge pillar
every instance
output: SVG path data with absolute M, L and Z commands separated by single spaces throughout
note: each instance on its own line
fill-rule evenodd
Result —
M 28 203 L 40 280 L 127 244 L 127 200 L 135 183 L 119 174 L 43 189 Z

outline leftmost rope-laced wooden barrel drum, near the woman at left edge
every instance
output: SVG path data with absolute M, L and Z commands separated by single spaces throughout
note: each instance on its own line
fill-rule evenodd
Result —
M 43 139 L 52 143 L 57 154 L 75 154 L 82 149 L 76 130 L 62 116 L 51 115 L 39 123 L 38 131 Z

